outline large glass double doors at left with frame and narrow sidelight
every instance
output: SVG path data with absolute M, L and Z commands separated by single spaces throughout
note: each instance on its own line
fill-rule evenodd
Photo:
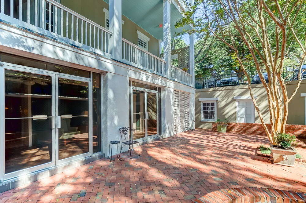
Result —
M 94 76 L 93 87 L 90 78 L 17 65 L 0 68 L 1 179 L 101 151 L 101 75 Z

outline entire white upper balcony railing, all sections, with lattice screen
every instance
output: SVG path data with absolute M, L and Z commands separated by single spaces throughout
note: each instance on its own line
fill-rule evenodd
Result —
M 0 0 L 2 22 L 90 53 L 112 57 L 112 32 L 106 28 L 54 0 L 19 0 L 17 5 L 16 1 Z M 123 63 L 192 85 L 192 76 L 182 70 L 189 69 L 189 47 L 173 50 L 171 54 L 177 56 L 179 67 L 170 66 L 171 75 L 167 75 L 165 60 L 122 38 Z

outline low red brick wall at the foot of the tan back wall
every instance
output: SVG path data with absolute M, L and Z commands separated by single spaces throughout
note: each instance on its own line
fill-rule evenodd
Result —
M 271 125 L 267 124 L 270 129 Z M 212 129 L 217 131 L 217 125 L 212 124 Z M 286 125 L 285 131 L 297 137 L 306 137 L 306 125 Z M 266 135 L 261 123 L 230 123 L 227 126 L 226 132 Z

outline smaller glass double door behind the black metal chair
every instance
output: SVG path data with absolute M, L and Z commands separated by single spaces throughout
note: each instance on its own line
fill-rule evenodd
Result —
M 132 87 L 131 132 L 133 140 L 146 140 L 158 135 L 157 91 Z

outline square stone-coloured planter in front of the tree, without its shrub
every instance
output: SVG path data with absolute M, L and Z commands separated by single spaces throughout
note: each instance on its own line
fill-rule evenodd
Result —
M 297 154 L 297 150 L 293 147 L 289 147 L 293 150 L 284 150 L 274 148 L 274 146 L 275 145 L 270 144 L 273 163 L 283 166 L 294 167 L 295 155 Z

